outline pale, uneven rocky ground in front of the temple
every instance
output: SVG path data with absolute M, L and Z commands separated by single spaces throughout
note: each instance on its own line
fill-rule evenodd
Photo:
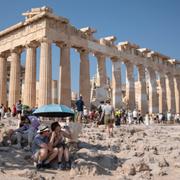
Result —
M 10 122 L 9 122 L 10 121 Z M 0 137 L 13 120 L 3 120 Z M 86 125 L 70 171 L 36 171 L 31 154 L 0 146 L 0 179 L 179 180 L 180 126 L 124 125 L 109 138 L 104 126 Z

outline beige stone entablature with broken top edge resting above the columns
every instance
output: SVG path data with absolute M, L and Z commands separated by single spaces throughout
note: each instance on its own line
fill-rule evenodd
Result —
M 39 11 L 38 11 L 39 10 Z M 65 42 L 74 48 L 83 48 L 92 53 L 102 53 L 106 57 L 127 60 L 135 65 L 145 65 L 153 67 L 155 70 L 164 69 L 165 72 L 180 74 L 179 67 L 176 67 L 176 60 L 168 61 L 169 57 L 150 51 L 142 53 L 139 46 L 130 42 L 114 45 L 114 36 L 95 40 L 92 34 L 96 30 L 90 27 L 76 29 L 69 24 L 66 18 L 56 16 L 48 8 L 36 8 L 31 12 L 35 14 L 4 31 L 0 32 L 0 52 L 14 49 L 17 46 L 25 46 L 31 41 L 39 41 L 43 37 L 48 37 L 52 42 Z M 28 12 L 31 14 L 31 12 Z M 26 13 L 25 13 L 26 14 Z M 89 38 L 91 37 L 91 38 Z M 156 63 L 156 67 L 154 66 Z

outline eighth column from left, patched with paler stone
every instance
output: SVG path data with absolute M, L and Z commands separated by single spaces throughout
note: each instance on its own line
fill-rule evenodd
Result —
M 112 104 L 115 108 L 122 105 L 121 61 L 112 59 Z

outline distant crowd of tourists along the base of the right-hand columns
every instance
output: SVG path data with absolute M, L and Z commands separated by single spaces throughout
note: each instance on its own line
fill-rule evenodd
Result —
M 88 111 L 84 109 L 84 116 L 82 116 L 84 122 L 97 122 L 98 125 L 106 124 L 106 107 L 110 105 L 110 101 L 101 101 L 97 108 L 92 108 Z M 112 107 L 112 106 L 111 106 Z M 154 123 L 168 124 L 168 123 L 180 123 L 180 114 L 173 114 L 170 111 L 166 113 L 146 113 L 142 114 L 140 110 L 125 109 L 112 107 L 111 119 L 113 119 L 114 126 L 120 126 L 121 124 L 145 124 L 150 125 Z

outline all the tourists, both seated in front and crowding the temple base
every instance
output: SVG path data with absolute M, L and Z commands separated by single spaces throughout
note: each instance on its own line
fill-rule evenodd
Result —
M 113 128 L 122 124 L 144 124 L 180 122 L 179 114 L 149 114 L 142 115 L 139 110 L 115 109 L 110 100 L 101 101 L 97 107 L 90 110 L 85 106 L 83 97 L 80 96 L 75 103 L 75 116 L 72 118 L 79 124 L 93 123 L 104 125 L 108 137 L 113 137 Z M 51 162 L 56 161 L 60 170 L 70 169 L 70 143 L 74 143 L 70 126 L 63 126 L 61 121 L 53 121 L 50 126 L 41 123 L 34 115 L 23 113 L 23 105 L 19 100 L 10 108 L 0 107 L 1 118 L 16 117 L 19 119 L 17 129 L 7 132 L 7 143 L 17 149 L 31 151 L 36 168 L 50 168 Z M 61 119 L 62 120 L 62 119 Z M 78 129 L 78 128 L 76 128 Z M 78 130 L 81 131 L 81 128 Z

